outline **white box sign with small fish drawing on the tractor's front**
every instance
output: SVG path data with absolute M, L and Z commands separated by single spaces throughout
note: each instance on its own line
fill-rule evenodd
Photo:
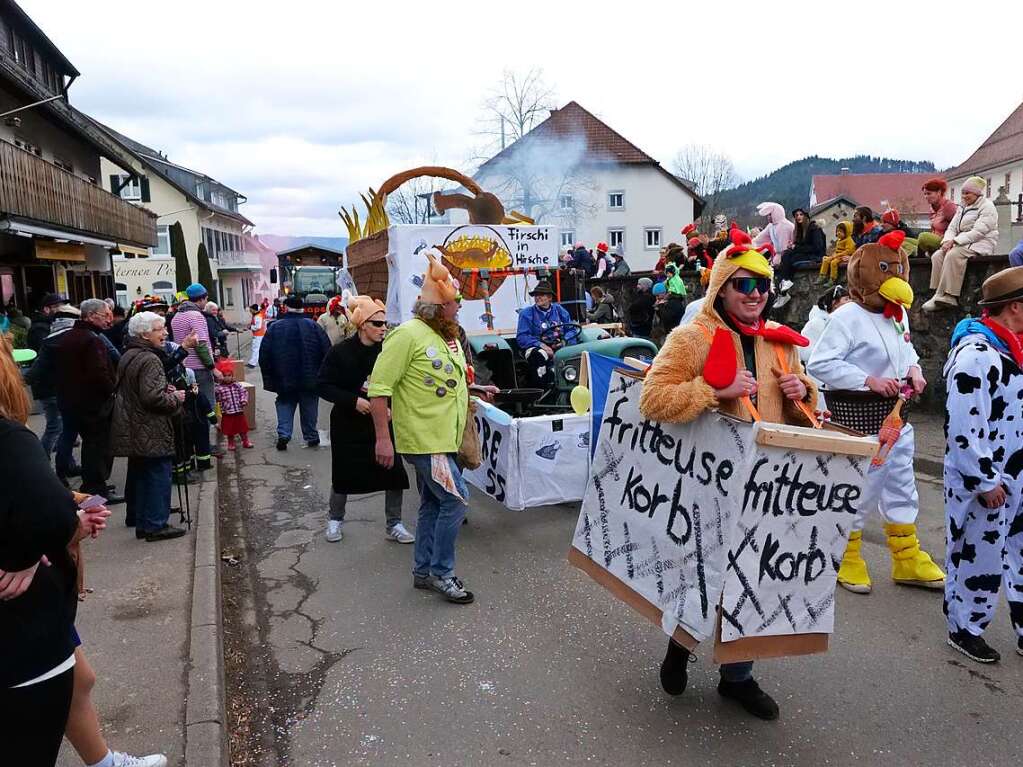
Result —
M 582 499 L 589 463 L 586 415 L 513 419 L 478 402 L 475 417 L 483 462 L 463 472 L 468 482 L 516 511 Z

